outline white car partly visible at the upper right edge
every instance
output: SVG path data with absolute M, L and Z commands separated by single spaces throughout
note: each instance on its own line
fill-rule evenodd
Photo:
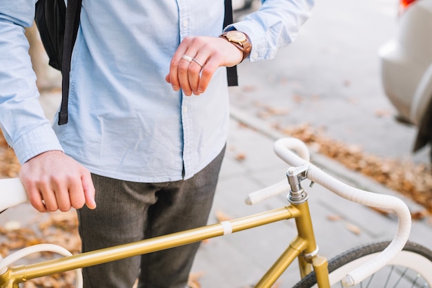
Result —
M 397 37 L 380 47 L 384 93 L 418 129 L 413 151 L 432 143 L 432 0 L 401 0 Z M 432 161 L 432 153 L 431 153 Z

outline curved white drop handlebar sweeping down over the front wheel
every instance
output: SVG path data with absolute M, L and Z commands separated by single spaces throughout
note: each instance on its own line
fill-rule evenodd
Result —
M 309 169 L 306 177 L 309 180 L 321 184 L 326 189 L 333 191 L 333 193 L 340 195 L 342 198 L 369 207 L 391 209 L 399 219 L 397 232 L 391 244 L 389 244 L 389 246 L 386 247 L 379 256 L 366 262 L 351 273 L 348 273 L 344 280 L 342 280 L 342 284 L 345 287 L 356 285 L 367 276 L 384 267 L 386 263 L 390 262 L 397 255 L 397 253 L 402 251 L 411 231 L 411 213 L 406 204 L 399 198 L 355 189 L 339 180 L 336 180 L 313 164 L 297 156 L 291 151 L 291 149 L 307 149 L 306 144 L 300 144 L 299 142 L 301 141 L 295 138 L 283 138 L 277 140 L 274 146 L 275 153 L 281 157 L 282 160 L 292 166 L 308 165 Z

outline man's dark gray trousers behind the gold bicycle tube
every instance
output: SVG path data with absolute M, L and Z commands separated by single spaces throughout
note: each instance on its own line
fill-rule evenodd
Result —
M 207 223 L 222 151 L 188 180 L 136 183 L 92 175 L 97 208 L 79 209 L 82 251 L 183 231 Z M 83 269 L 84 288 L 184 288 L 199 243 Z

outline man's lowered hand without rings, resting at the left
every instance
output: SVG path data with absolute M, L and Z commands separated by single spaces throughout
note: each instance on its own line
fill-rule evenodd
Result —
M 61 151 L 48 151 L 21 166 L 21 182 L 39 212 L 96 208 L 90 172 Z

